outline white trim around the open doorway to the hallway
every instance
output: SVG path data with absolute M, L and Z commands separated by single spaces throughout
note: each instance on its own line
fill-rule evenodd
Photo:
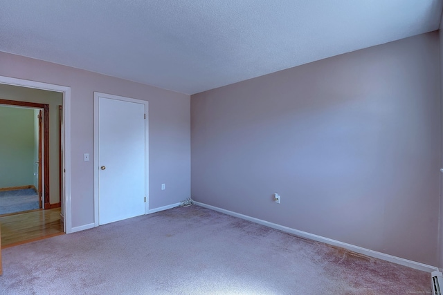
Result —
M 72 214 L 71 214 L 71 87 L 35 82 L 25 79 L 0 76 L 0 84 L 8 84 L 27 88 L 42 89 L 46 91 L 55 91 L 63 93 L 63 120 L 64 120 L 64 141 L 63 141 L 63 167 L 64 173 L 63 196 L 64 202 L 64 232 L 72 232 Z

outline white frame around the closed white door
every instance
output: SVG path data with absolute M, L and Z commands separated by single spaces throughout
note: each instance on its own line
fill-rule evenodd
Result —
M 134 102 L 145 105 L 145 214 L 149 211 L 149 102 L 119 95 L 94 92 L 94 226 L 98 227 L 98 176 L 99 176 L 99 98 L 117 99 L 123 102 Z

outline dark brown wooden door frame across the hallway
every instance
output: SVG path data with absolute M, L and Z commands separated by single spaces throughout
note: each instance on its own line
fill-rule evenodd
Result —
M 42 124 L 43 119 L 43 138 L 42 138 L 42 129 L 39 127 L 39 146 L 38 155 L 39 155 L 39 208 L 42 208 L 42 170 L 43 170 L 43 208 L 49 209 L 51 203 L 50 191 L 49 191 L 49 104 L 39 104 L 37 102 L 20 102 L 18 100 L 10 100 L 10 99 L 0 99 L 0 105 L 5 106 L 22 106 L 24 108 L 33 108 L 39 109 L 40 114 L 43 111 L 43 118 L 39 117 L 39 126 Z M 43 153 L 42 153 L 42 139 L 43 139 Z M 43 157 L 42 157 L 43 155 Z M 43 158 L 43 163 L 42 163 Z M 61 196 L 60 196 L 61 198 Z

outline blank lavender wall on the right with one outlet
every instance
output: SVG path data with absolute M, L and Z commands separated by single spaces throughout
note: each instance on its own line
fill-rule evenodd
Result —
M 436 265 L 440 138 L 431 32 L 192 95 L 192 198 Z

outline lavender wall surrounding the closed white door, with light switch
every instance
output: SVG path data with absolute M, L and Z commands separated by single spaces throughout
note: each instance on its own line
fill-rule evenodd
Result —
M 190 96 L 0 53 L 0 75 L 71 87 L 72 226 L 93 223 L 93 93 L 149 101 L 150 209 L 190 196 Z M 91 160 L 83 161 L 83 153 Z M 166 190 L 161 191 L 161 183 Z

